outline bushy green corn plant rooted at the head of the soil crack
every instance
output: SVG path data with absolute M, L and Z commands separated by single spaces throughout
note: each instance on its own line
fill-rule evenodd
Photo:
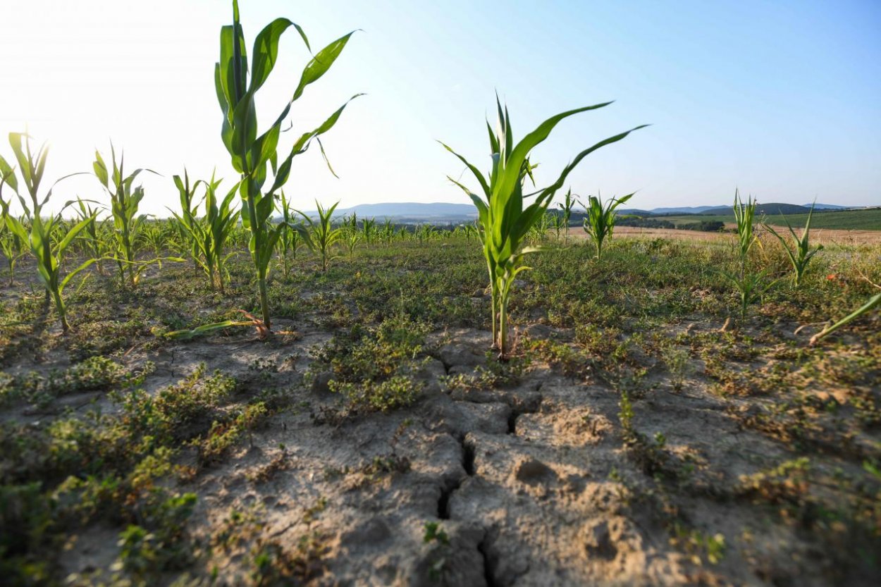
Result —
M 633 130 L 642 127 L 636 127 L 614 137 L 606 138 L 585 149 L 564 167 L 556 182 L 546 188 L 524 194 L 524 182 L 531 175 L 532 168 L 535 167 L 529 162 L 529 153 L 544 142 L 553 128 L 564 118 L 587 110 L 603 108 L 609 103 L 611 102 L 576 108 L 552 116 L 515 145 L 507 108 L 502 109 L 497 97 L 498 127 L 493 132 L 489 122 L 486 123 L 487 130 L 489 130 L 490 155 L 492 157 L 492 169 L 488 176 L 483 175 L 462 155 L 441 143 L 470 169 L 470 172 L 478 180 L 480 191 L 482 191 L 482 196 L 478 196 L 462 183 L 449 178 L 451 182 L 454 182 L 468 194 L 478 208 L 478 218 L 483 228 L 484 256 L 489 272 L 492 297 L 492 344 L 499 348 L 501 359 L 507 359 L 511 351 L 508 340 L 507 316 L 511 287 L 514 285 L 517 274 L 529 269 L 522 264 L 523 256 L 536 250 L 525 246 L 529 229 L 544 215 L 557 190 L 566 182 L 566 176 L 582 159 L 589 153 L 604 145 L 615 143 Z M 531 204 L 524 206 L 530 197 L 534 198 Z

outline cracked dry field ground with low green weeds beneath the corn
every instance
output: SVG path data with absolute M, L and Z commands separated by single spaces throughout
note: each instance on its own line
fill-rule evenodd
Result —
M 473 236 L 327 271 L 301 250 L 268 338 L 164 336 L 259 307 L 242 249 L 225 295 L 189 263 L 124 295 L 93 274 L 67 336 L 23 264 L 0 296 L 5 576 L 872 584 L 881 318 L 807 340 L 881 281 L 881 245 L 828 246 L 732 326 L 729 243 L 544 244 L 507 362 Z M 750 263 L 788 273 L 773 244 Z

